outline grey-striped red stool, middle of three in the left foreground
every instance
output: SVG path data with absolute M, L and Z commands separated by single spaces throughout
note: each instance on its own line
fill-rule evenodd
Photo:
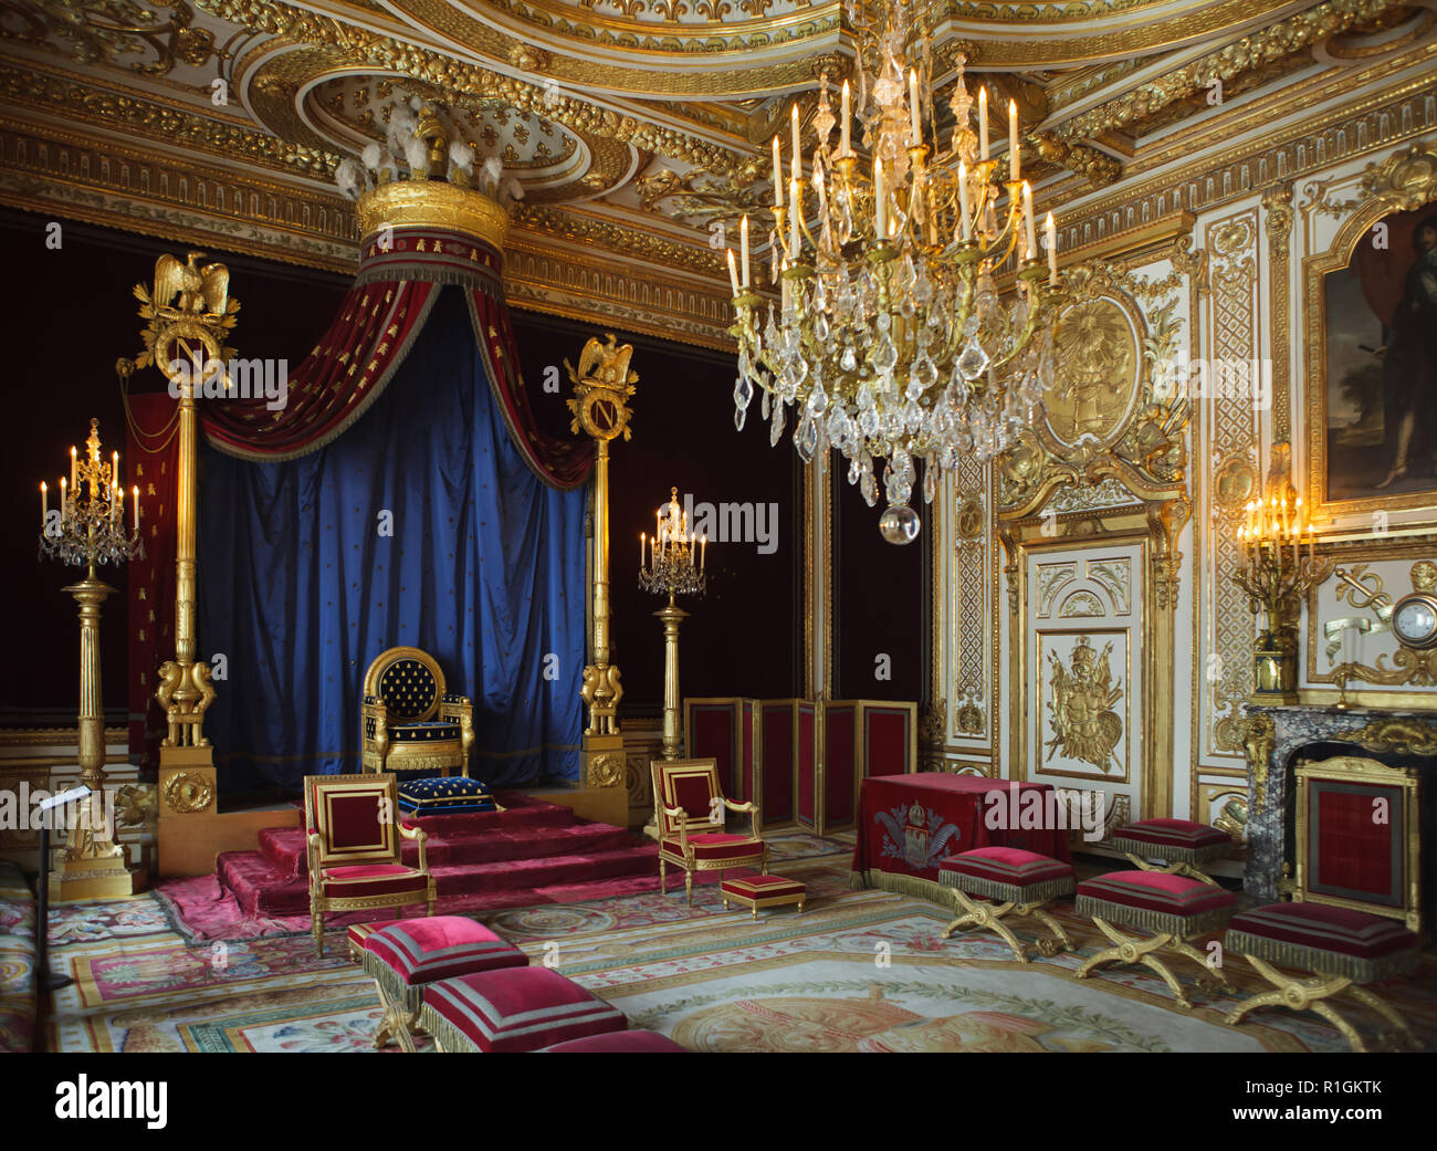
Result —
M 444 1052 L 503 1052 L 621 1032 L 628 1019 L 549 967 L 507 967 L 431 983 L 420 1025 Z

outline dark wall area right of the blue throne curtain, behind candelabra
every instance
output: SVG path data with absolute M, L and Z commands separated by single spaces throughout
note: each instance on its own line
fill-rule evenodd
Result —
M 539 418 L 569 434 L 570 395 L 563 361 L 576 364 L 589 336 L 609 329 L 513 312 L 519 355 Z M 708 591 L 681 598 L 691 612 L 680 629 L 680 690 L 684 695 L 785 698 L 802 691 L 802 552 L 799 517 L 803 477 L 785 434 L 769 447 L 769 425 L 750 405 L 743 433 L 733 425 L 733 355 L 615 330 L 634 345 L 639 375 L 631 401 L 634 438 L 618 440 L 609 464 L 609 595 L 614 608 L 611 658 L 624 677 L 621 716 L 658 714 L 664 703 L 664 632 L 654 618 L 667 601 L 638 588 L 639 532 L 654 535 L 654 512 L 670 487 L 694 506 L 753 503 L 776 507 L 776 549 L 708 540 Z M 545 369 L 559 369 L 559 392 L 543 391 Z M 789 421 L 792 430 L 792 421 Z

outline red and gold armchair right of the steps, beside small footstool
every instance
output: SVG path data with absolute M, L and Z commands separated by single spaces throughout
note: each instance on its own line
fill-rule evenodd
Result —
M 749 835 L 724 832 L 724 812 L 747 812 Z M 654 760 L 654 822 L 658 826 L 658 885 L 668 892 L 667 865 L 684 869 L 694 902 L 694 872 L 757 866 L 769 874 L 769 845 L 759 836 L 759 805 L 724 799 L 713 759 Z

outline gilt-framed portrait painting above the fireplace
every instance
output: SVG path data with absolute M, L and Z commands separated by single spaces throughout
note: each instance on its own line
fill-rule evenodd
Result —
M 1309 504 L 1437 512 L 1437 197 L 1354 211 L 1308 260 Z

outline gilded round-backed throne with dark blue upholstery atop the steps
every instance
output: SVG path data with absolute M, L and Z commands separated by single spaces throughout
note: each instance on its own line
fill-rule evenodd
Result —
M 444 672 L 418 648 L 381 652 L 364 675 L 361 730 L 365 772 L 468 776 L 474 706 L 444 690 Z

